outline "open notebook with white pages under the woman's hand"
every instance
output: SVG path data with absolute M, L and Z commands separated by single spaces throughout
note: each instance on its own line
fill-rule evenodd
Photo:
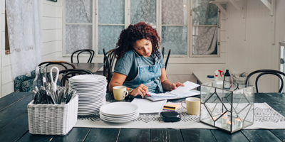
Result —
M 199 91 L 197 90 L 191 90 L 195 89 L 196 87 L 199 87 L 199 84 L 193 83 L 193 82 L 184 82 L 183 83 L 185 86 L 182 87 L 177 87 L 177 89 L 172 90 L 171 92 L 165 92 L 165 93 L 159 93 L 155 94 L 152 92 L 149 92 L 149 96 L 145 96 L 145 99 L 150 99 L 152 101 L 160 101 L 160 100 L 165 100 L 165 99 L 180 99 L 180 98 L 185 98 L 185 97 L 191 97 L 200 94 Z

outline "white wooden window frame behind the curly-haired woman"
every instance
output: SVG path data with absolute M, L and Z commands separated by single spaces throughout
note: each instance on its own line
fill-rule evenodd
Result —
M 63 47 L 62 47 L 62 55 L 63 57 L 71 57 L 71 54 L 66 54 L 66 24 L 76 24 L 76 25 L 92 25 L 92 49 L 95 51 L 95 58 L 102 58 L 103 55 L 98 54 L 98 26 L 99 25 L 114 25 L 114 26 L 125 26 L 125 28 L 128 28 L 130 25 L 130 1 L 131 0 L 125 0 L 125 24 L 99 24 L 98 23 L 98 1 L 99 0 L 92 0 L 93 1 L 93 21 L 92 23 L 66 23 L 66 1 L 63 0 Z M 192 0 L 187 0 L 187 24 L 186 25 L 162 25 L 162 0 L 155 0 L 156 1 L 156 24 L 151 25 L 155 26 L 158 35 L 162 35 L 162 26 L 187 26 L 187 54 L 186 55 L 173 55 L 171 54 L 170 57 L 174 58 L 221 58 L 220 54 L 220 12 L 218 11 L 218 19 L 217 19 L 217 54 L 215 55 L 192 55 Z M 213 25 L 199 25 L 199 26 L 213 26 Z M 88 57 L 88 55 L 83 55 L 83 57 Z M 167 55 L 165 55 L 166 57 Z

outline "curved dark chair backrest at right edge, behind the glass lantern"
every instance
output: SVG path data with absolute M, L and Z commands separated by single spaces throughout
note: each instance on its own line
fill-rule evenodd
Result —
M 262 75 L 276 75 L 277 77 L 279 77 L 279 79 L 281 80 L 281 87 L 279 89 L 279 92 L 282 92 L 283 86 L 284 86 L 284 81 L 283 81 L 283 77 L 281 77 L 281 75 L 285 76 L 284 72 L 280 72 L 279 70 L 270 70 L 270 69 L 265 69 L 265 70 L 255 70 L 254 72 L 251 72 L 248 76 L 247 79 L 245 80 L 245 84 L 248 84 L 249 82 L 249 77 L 251 77 L 254 74 L 260 73 L 257 76 L 257 79 L 255 80 L 255 87 L 257 89 L 257 93 L 259 93 L 258 90 L 258 86 L 257 86 L 257 82 L 259 80 L 259 77 L 261 77 Z

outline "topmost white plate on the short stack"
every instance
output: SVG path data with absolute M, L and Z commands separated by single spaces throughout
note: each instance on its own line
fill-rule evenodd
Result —
M 138 111 L 138 106 L 130 102 L 113 102 L 105 104 L 100 111 L 108 115 L 127 115 Z

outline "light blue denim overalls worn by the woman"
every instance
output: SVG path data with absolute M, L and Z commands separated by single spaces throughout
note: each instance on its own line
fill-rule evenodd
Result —
M 148 87 L 148 92 L 162 93 L 163 89 L 160 82 L 161 65 L 158 58 L 155 57 L 155 65 L 142 65 L 142 59 L 138 54 L 136 60 L 138 60 L 138 75 L 133 80 L 125 81 L 123 85 L 135 89 L 140 84 L 144 84 Z

